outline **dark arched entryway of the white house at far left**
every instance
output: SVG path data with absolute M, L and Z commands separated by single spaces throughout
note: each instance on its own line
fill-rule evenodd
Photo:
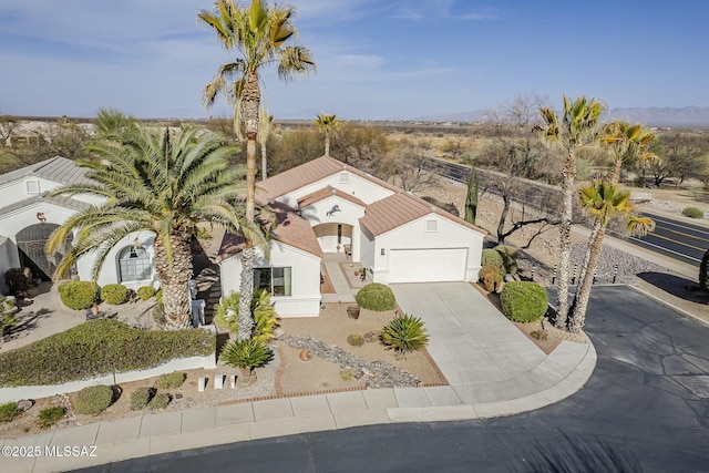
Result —
M 59 225 L 55 224 L 34 224 L 23 228 L 16 235 L 18 251 L 20 254 L 20 266 L 30 268 L 35 278 L 44 281 L 52 280 L 56 264 L 63 256 L 60 251 L 60 254 L 54 255 L 52 258 L 48 258 L 44 253 L 44 246 L 47 245 L 49 236 L 58 227 Z M 70 240 L 71 235 L 64 250 L 69 249 Z

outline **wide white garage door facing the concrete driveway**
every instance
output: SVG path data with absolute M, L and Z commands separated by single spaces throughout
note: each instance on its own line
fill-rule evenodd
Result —
M 389 282 L 462 281 L 467 248 L 392 249 Z

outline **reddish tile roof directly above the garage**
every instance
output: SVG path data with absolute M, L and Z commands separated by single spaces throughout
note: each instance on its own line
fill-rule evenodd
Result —
M 482 235 L 487 234 L 484 229 L 403 191 L 368 205 L 359 223 L 376 237 L 429 214 L 436 214 Z

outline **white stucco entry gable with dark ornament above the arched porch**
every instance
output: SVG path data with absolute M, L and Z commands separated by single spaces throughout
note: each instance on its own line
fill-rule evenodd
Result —
M 340 208 L 340 212 L 336 212 L 335 214 L 328 216 L 327 213 L 330 212 L 336 205 Z M 352 260 L 360 260 L 359 219 L 364 216 L 364 207 L 346 200 L 342 197 L 338 197 L 336 194 L 332 195 L 332 197 L 325 198 L 320 202 L 301 208 L 301 215 L 308 220 L 308 223 L 310 223 L 311 227 L 316 227 L 322 224 L 336 225 L 336 233 L 333 237 L 318 238 L 318 240 L 320 241 L 320 247 L 325 253 L 337 251 L 337 224 L 351 225 L 351 241 L 349 240 L 350 238 L 345 236 L 343 232 L 342 245 L 350 244 L 352 246 Z M 339 251 L 345 251 L 345 249 L 340 248 Z

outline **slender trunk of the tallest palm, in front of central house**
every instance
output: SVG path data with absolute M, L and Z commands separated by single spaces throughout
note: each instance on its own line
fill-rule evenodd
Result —
M 246 220 L 254 223 L 256 214 L 256 136 L 258 134 L 258 107 L 260 90 L 258 76 L 249 73 L 244 86 L 244 117 L 246 121 Z M 254 248 L 253 241 L 246 240 L 242 253 L 242 284 L 239 287 L 239 317 L 237 340 L 251 337 L 254 319 L 251 317 L 251 299 L 254 298 Z

